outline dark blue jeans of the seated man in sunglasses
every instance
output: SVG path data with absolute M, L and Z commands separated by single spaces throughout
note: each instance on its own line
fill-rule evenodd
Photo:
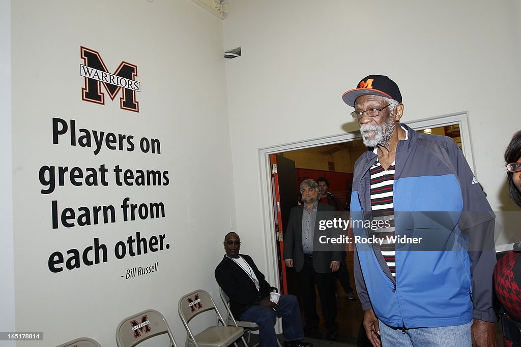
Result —
M 265 299 L 269 300 L 269 297 Z M 280 295 L 277 311 L 265 306 L 253 305 L 242 313 L 240 319 L 255 322 L 259 326 L 259 347 L 274 347 L 277 346 L 277 335 L 275 334 L 277 316 L 282 317 L 284 340 L 304 339 L 299 301 L 296 300 L 295 295 Z

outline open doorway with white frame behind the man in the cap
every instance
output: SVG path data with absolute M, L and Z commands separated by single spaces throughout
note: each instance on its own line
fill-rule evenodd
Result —
M 468 130 L 467 114 L 457 113 L 443 117 L 408 122 L 418 132 L 445 135 L 454 139 L 462 149 L 470 167 L 474 170 L 474 161 L 470 149 L 470 134 Z M 264 233 L 266 235 L 266 254 L 268 256 L 268 278 L 273 282 L 279 282 L 279 288 L 284 293 L 300 294 L 296 275 L 284 267 L 281 249 L 283 245 L 283 231 L 286 225 L 288 209 L 297 205 L 300 199 L 299 185 L 307 178 L 336 177 L 329 191 L 336 195 L 343 203 L 349 206 L 353 166 L 356 159 L 366 151 L 359 132 L 353 131 L 341 135 L 306 140 L 299 143 L 269 147 L 259 150 L 259 161 L 263 185 L 263 209 L 264 209 Z M 286 176 L 292 179 L 281 179 L 281 182 L 293 185 L 282 187 L 281 182 L 275 177 L 279 170 L 272 173 L 272 164 L 284 161 L 286 164 L 280 169 L 293 170 Z M 289 169 L 288 169 L 289 168 Z M 290 177 L 291 178 L 291 177 Z M 329 181 L 331 179 L 328 178 Z M 289 195 L 289 198 L 288 198 Z M 282 196 L 282 197 L 281 197 Z M 281 203 L 286 198 L 286 202 Z M 288 204 L 287 201 L 290 201 Z M 269 256 L 268 254 L 272 254 Z M 353 252 L 348 252 L 346 264 L 350 272 L 351 287 L 355 288 L 353 278 Z M 271 271 L 271 273 L 270 273 Z M 275 280 L 277 279 L 277 280 Z M 361 324 L 363 312 L 358 298 L 355 301 L 348 300 L 345 291 L 340 284 L 337 286 L 338 322 L 340 324 L 339 336 L 344 342 L 356 339 L 358 328 Z M 319 303 L 319 300 L 317 300 Z M 317 307 L 317 312 L 320 309 Z

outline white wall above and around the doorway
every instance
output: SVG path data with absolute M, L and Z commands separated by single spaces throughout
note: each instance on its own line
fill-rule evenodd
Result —
M 356 131 L 341 96 L 372 73 L 400 86 L 404 123 L 467 111 L 475 174 L 493 209 L 511 209 L 502 156 L 521 128 L 516 1 L 229 0 L 228 6 L 225 48 L 242 47 L 226 73 L 243 251 L 265 258 L 253 247 L 264 233 L 258 149 Z

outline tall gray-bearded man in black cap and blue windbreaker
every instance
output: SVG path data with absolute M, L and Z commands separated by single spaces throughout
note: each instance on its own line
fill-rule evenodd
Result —
M 386 242 L 355 245 L 369 340 L 374 346 L 496 346 L 495 215 L 462 151 L 449 137 L 400 124 L 402 95 L 387 76 L 367 76 L 342 99 L 354 107 L 368 147 L 354 166 L 352 225 L 389 222 L 373 230 Z M 360 224 L 353 232 L 371 234 Z M 415 250 L 388 238 L 407 234 L 452 248 Z

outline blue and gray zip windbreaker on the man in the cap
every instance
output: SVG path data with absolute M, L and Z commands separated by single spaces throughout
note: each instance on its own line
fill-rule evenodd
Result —
M 420 134 L 402 124 L 408 140 L 396 148 L 395 233 L 423 237 L 396 245 L 396 279 L 377 246 L 356 244 L 354 275 L 363 310 L 383 323 L 417 328 L 496 322 L 492 307 L 495 215 L 462 151 L 449 137 Z M 351 219 L 371 219 L 372 151 L 355 163 Z M 370 228 L 353 226 L 367 237 Z

